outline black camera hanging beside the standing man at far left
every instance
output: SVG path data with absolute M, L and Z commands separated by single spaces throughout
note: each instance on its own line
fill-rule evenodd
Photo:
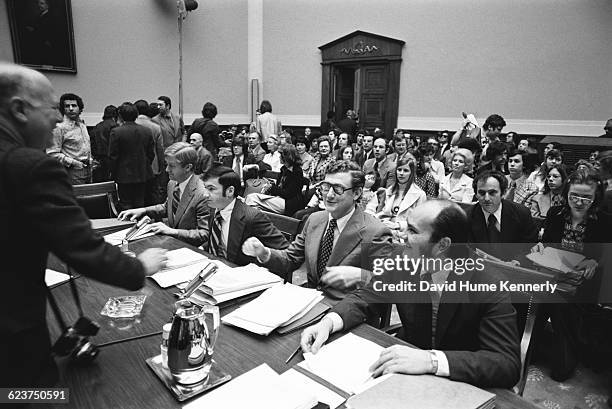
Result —
M 51 350 L 57 356 L 71 356 L 76 362 L 92 362 L 100 350 L 89 337 L 98 333 L 100 327 L 89 318 L 80 317 L 77 322 L 66 329 L 58 338 Z

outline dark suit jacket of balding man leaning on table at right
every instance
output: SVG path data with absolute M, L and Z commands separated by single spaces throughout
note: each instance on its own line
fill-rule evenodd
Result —
M 418 279 L 417 276 L 410 278 L 407 275 L 406 272 L 395 272 L 396 278 L 391 282 Z M 474 270 L 462 276 L 451 273 L 447 281 L 496 283 L 499 286 L 499 281 L 503 279 L 489 271 Z M 431 323 L 431 307 L 423 311 L 422 307 L 427 307 L 426 304 L 408 303 L 421 296 L 429 299 L 429 295 L 419 292 L 403 295 L 377 292 L 373 290 L 375 280 L 376 277 L 368 286 L 349 294 L 332 309 L 332 312 L 342 317 L 345 330 L 361 324 L 373 314 L 380 314 L 381 308 L 393 300 L 396 301 L 402 322 L 398 337 L 419 348 L 444 352 L 448 359 L 450 379 L 480 387 L 505 388 L 514 386 L 518 381 L 521 364 L 517 319 L 508 293 L 443 292 L 438 309 L 435 345 L 431 345 L 431 325 L 424 327 L 422 318 L 418 316 L 428 314 L 426 318 Z M 385 277 L 382 280 L 386 281 Z M 402 297 L 402 302 L 399 302 L 398 297 Z

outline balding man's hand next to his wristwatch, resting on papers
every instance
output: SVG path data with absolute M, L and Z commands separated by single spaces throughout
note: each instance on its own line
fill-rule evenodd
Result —
M 433 373 L 431 353 L 404 345 L 393 345 L 380 353 L 380 358 L 370 367 L 372 377 L 388 373 L 422 375 Z

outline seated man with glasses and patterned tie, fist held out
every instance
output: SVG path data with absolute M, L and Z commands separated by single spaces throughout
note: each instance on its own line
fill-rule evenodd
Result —
M 366 246 L 391 242 L 391 231 L 380 220 L 356 208 L 364 184 L 365 176 L 355 163 L 334 163 L 319 184 L 326 210 L 310 215 L 288 249 L 270 249 L 251 237 L 242 251 L 278 273 L 292 272 L 305 262 L 310 287 L 343 298 L 371 275 L 362 267 L 380 249 L 367 254 Z

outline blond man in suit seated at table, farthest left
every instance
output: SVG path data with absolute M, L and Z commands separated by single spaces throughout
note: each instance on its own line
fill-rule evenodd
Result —
M 170 145 L 164 152 L 168 182 L 168 199 L 161 204 L 131 209 L 119 214 L 122 220 L 136 220 L 147 215 L 153 219 L 168 218 L 168 224 L 157 222 L 151 231 L 176 237 L 193 246 L 208 245 L 208 192 L 194 174 L 198 154 L 187 142 Z

